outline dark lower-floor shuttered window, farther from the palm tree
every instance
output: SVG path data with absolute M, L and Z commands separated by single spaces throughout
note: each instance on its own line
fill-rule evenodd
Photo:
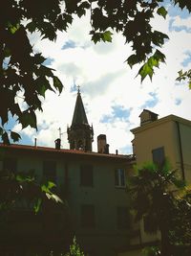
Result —
M 93 204 L 83 204 L 81 206 L 81 226 L 95 227 L 95 206 Z

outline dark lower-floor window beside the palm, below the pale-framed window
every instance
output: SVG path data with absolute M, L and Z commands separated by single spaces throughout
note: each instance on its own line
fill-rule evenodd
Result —
M 117 207 L 117 228 L 127 229 L 130 228 L 131 217 L 128 207 Z

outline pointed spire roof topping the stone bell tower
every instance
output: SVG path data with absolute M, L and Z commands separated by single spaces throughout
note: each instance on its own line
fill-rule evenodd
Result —
M 74 116 L 73 116 L 72 126 L 82 125 L 82 124 L 88 125 L 88 119 L 86 116 L 85 108 L 81 99 L 81 94 L 78 86 L 77 98 L 74 106 Z

